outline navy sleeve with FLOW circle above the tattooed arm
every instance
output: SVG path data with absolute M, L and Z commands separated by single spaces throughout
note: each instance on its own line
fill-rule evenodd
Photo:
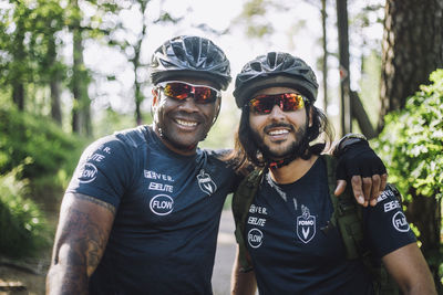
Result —
M 79 192 L 119 207 L 132 181 L 134 155 L 115 136 L 91 144 L 81 156 L 66 192 Z

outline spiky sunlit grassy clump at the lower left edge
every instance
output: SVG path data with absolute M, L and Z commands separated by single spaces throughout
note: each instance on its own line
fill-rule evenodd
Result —
M 37 255 L 50 245 L 50 231 L 37 204 L 24 199 L 27 182 L 17 181 L 21 167 L 0 176 L 0 253 L 10 257 Z

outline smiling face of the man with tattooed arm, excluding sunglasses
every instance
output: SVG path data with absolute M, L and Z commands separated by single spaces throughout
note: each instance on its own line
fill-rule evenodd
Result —
M 219 88 L 214 83 L 193 77 L 176 77 L 195 85 Z M 177 101 L 166 96 L 161 88 L 153 91 L 154 130 L 173 151 L 192 155 L 198 141 L 205 139 L 220 107 L 220 98 L 214 103 L 199 104 L 194 97 Z

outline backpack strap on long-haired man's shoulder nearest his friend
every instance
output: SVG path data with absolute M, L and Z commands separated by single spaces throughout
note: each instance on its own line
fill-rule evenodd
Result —
M 264 175 L 262 169 L 257 169 L 250 172 L 239 185 L 233 197 L 233 214 L 236 224 L 235 236 L 238 243 L 238 260 L 240 263 L 241 272 L 249 272 L 253 270 L 253 264 L 247 259 L 247 249 L 245 241 L 245 225 L 246 218 L 249 212 L 250 204 L 257 193 L 258 187 L 261 182 Z

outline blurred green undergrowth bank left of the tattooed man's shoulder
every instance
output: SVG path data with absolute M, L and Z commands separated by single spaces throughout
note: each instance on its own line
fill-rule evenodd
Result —
M 85 139 L 66 135 L 50 118 L 0 109 L 0 173 L 23 165 L 19 178 L 31 180 L 31 188 L 44 193 L 63 189 L 74 170 Z

